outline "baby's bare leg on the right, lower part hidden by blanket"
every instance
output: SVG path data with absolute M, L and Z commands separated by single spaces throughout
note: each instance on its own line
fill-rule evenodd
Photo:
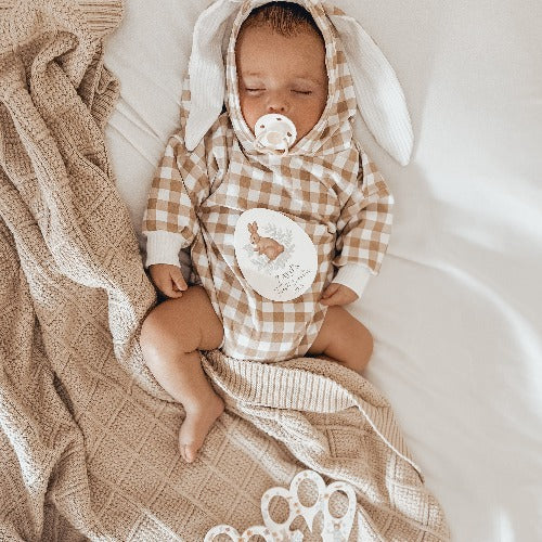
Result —
M 369 330 L 345 308 L 327 309 L 320 333 L 309 348 L 309 354 L 324 354 L 361 373 L 373 352 L 373 337 Z

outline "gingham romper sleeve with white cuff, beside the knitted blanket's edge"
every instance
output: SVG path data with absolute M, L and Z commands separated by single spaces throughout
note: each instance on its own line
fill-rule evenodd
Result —
M 179 250 L 190 246 L 197 234 L 195 209 L 208 190 L 203 155 L 189 154 L 181 132 L 173 134 L 158 164 L 143 217 L 146 267 L 179 266 Z

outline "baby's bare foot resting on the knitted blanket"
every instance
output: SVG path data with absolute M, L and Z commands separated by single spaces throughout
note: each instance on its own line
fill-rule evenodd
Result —
M 224 411 L 224 402 L 220 397 L 214 395 L 210 402 L 193 408 L 185 406 L 184 410 L 186 417 L 179 430 L 179 450 L 182 459 L 192 463 L 212 424 Z

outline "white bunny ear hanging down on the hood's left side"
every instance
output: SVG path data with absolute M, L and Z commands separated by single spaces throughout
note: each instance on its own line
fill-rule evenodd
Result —
M 185 145 L 193 151 L 224 103 L 225 75 L 222 41 L 230 16 L 238 11 L 241 0 L 218 0 L 196 21 L 189 61 L 190 112 Z

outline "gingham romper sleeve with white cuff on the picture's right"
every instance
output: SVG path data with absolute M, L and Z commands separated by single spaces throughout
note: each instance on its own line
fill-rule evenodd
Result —
M 358 185 L 337 222 L 338 268 L 333 282 L 345 284 L 361 295 L 371 275 L 378 273 L 391 231 L 393 196 L 369 156 L 360 150 Z

